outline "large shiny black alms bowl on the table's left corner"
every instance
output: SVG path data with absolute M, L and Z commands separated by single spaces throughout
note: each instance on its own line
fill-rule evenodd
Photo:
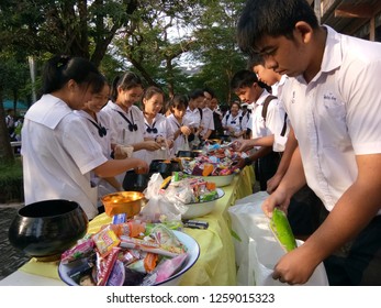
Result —
M 31 257 L 58 258 L 86 234 L 88 223 L 77 202 L 45 200 L 21 208 L 8 237 L 14 248 Z

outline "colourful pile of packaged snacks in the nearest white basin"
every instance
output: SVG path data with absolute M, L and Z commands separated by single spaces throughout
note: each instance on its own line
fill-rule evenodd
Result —
M 179 227 L 117 215 L 64 252 L 60 262 L 78 285 L 155 285 L 180 271 L 187 260 L 187 248 L 172 231 Z

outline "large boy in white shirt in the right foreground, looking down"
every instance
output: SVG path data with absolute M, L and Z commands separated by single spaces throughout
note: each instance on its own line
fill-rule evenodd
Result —
M 249 0 L 237 36 L 289 76 L 282 102 L 299 148 L 264 211 L 287 210 L 305 183 L 327 210 L 272 277 L 303 284 L 324 261 L 330 285 L 381 285 L 381 44 L 321 26 L 304 0 Z

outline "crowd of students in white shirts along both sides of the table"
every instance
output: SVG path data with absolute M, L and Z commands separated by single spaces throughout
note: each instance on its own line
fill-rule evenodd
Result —
M 223 114 L 208 88 L 166 102 L 136 74 L 109 86 L 86 59 L 48 61 L 22 130 L 25 204 L 70 198 L 92 219 L 125 173 L 228 136 L 253 151 L 237 165 L 254 164 L 271 194 L 264 211 L 280 207 L 309 229 L 273 278 L 303 284 L 324 261 L 333 285 L 380 284 L 380 45 L 318 25 L 305 0 L 248 0 L 237 34 L 250 65 L 233 76 L 240 102 Z

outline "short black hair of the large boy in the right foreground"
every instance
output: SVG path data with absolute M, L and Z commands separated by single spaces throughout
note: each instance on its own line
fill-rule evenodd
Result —
M 306 0 L 247 0 L 237 24 L 237 42 L 246 53 L 257 53 L 265 35 L 293 38 L 299 21 L 318 26 L 314 10 Z

